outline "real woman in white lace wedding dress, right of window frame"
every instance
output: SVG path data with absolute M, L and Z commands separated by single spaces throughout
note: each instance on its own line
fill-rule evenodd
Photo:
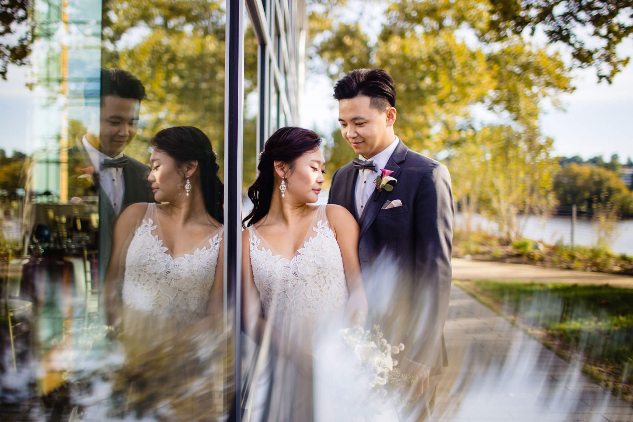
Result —
M 249 392 L 251 420 L 315 419 L 313 352 L 328 323 L 351 325 L 367 315 L 358 224 L 341 206 L 313 205 L 325 182 L 319 146 L 311 130 L 277 130 L 248 190 L 253 211 L 242 234 L 244 330 L 260 354 L 266 342 L 272 349 Z

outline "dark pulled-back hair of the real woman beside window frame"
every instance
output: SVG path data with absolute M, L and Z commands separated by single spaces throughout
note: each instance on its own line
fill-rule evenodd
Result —
M 257 166 L 260 174 L 248 188 L 253 211 L 242 220 L 242 225 L 248 221 L 248 226 L 252 226 L 268 214 L 275 187 L 275 161 L 282 161 L 292 168 L 294 160 L 320 145 L 319 135 L 300 127 L 282 127 L 266 140 Z

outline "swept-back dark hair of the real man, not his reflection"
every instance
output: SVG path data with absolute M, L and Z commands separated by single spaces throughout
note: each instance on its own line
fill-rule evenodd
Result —
M 334 98 L 370 97 L 370 106 L 384 111 L 396 106 L 396 84 L 389 73 L 382 69 L 356 69 L 334 85 Z

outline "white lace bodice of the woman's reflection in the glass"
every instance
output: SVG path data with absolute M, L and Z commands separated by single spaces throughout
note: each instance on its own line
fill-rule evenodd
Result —
M 123 302 L 154 316 L 195 323 L 208 306 L 222 227 L 204 240 L 202 248 L 175 258 L 154 230 L 160 232 L 160 223 L 156 204 L 149 204 L 127 251 Z

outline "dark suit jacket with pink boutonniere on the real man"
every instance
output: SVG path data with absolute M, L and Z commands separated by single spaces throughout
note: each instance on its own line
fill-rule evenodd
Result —
M 443 329 L 451 289 L 451 252 L 453 243 L 453 194 L 451 178 L 444 164 L 408 149 L 402 141 L 385 166 L 398 181 L 391 192 L 374 190 L 363 216 L 356 214 L 354 187 L 358 170 L 352 163 L 334 173 L 328 202 L 339 204 L 356 217 L 360 225 L 358 255 L 365 279 L 372 314 L 372 291 L 398 290 L 393 301 L 407 309 L 406 356 L 429 366 L 439 373 L 447 364 Z M 401 206 L 382 209 L 385 201 L 399 199 Z M 368 272 L 380 271 L 377 259 L 382 257 L 395 263 L 400 273 L 376 276 Z M 396 286 L 375 289 L 367 283 L 389 283 Z M 377 281 L 380 279 L 380 282 Z M 369 281 L 368 281 L 369 280 Z M 380 295 L 380 293 L 377 293 Z M 402 304 L 403 301 L 408 302 Z M 394 304 L 395 306 L 396 304 Z M 402 306 L 401 306 L 402 305 Z M 402 316 L 393 318 L 403 321 Z M 380 318 L 379 320 L 384 320 Z

